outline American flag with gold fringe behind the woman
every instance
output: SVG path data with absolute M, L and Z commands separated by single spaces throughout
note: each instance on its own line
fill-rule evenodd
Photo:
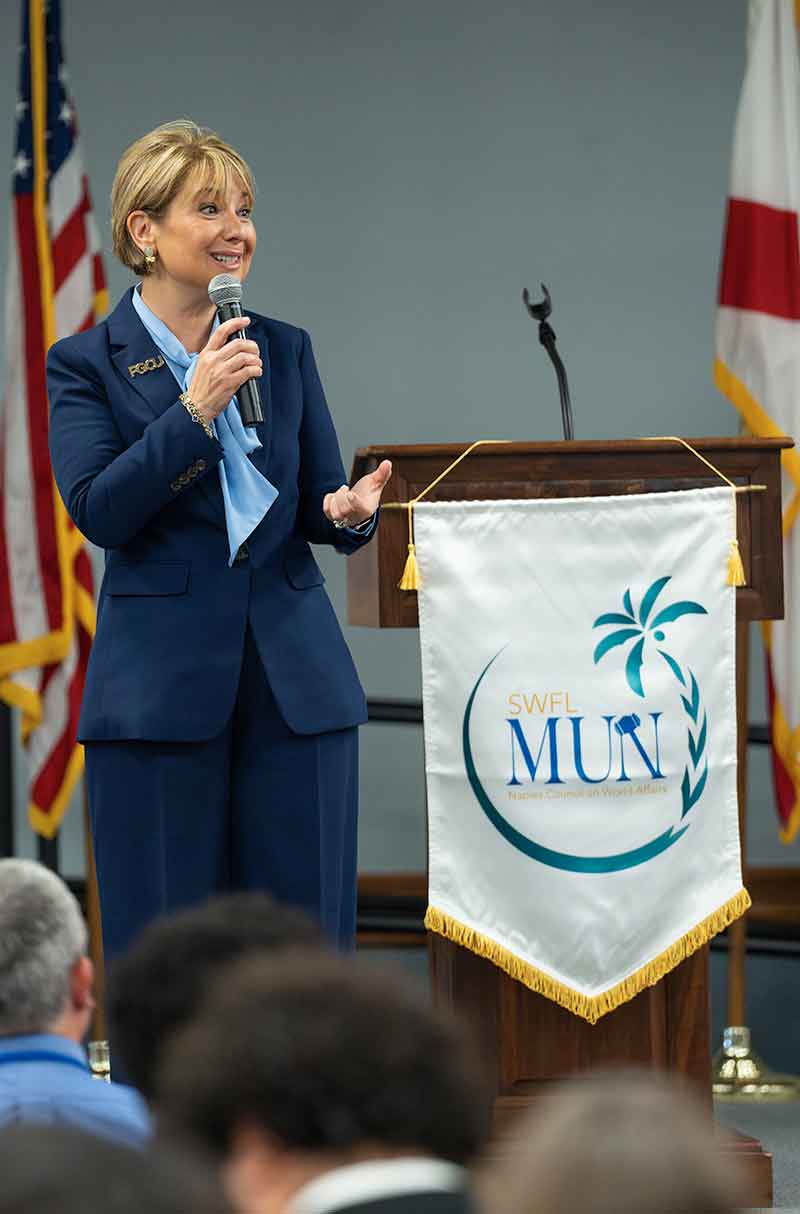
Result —
M 52 838 L 83 772 L 75 730 L 92 573 L 47 454 L 45 356 L 107 310 L 59 0 L 23 0 L 0 418 L 0 697 L 22 709 L 29 817 Z

